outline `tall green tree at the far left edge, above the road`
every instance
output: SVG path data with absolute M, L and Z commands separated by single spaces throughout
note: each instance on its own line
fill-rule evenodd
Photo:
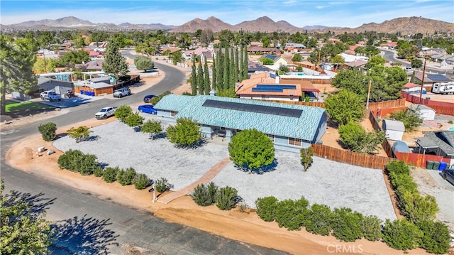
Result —
M 38 90 L 38 78 L 33 73 L 37 44 L 31 34 L 14 40 L 0 35 L 0 113 L 6 113 L 6 94 L 30 94 Z

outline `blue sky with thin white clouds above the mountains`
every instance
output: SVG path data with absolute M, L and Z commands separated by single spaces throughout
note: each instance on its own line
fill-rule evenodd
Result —
M 382 23 L 392 18 L 422 16 L 454 23 L 453 0 L 355 1 L 0 1 L 0 23 L 74 16 L 93 23 L 162 23 L 179 26 L 210 16 L 235 25 L 268 16 L 294 26 L 344 26 Z

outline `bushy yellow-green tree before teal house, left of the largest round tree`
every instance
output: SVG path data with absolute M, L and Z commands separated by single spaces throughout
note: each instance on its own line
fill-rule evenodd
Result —
M 201 140 L 199 124 L 188 118 L 177 119 L 175 126 L 168 126 L 166 129 L 167 139 L 179 147 L 195 146 Z

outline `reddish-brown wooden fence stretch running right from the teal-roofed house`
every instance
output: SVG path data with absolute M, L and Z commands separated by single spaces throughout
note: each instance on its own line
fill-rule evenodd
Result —
M 375 156 L 369 154 L 355 153 L 345 151 L 339 148 L 324 146 L 322 144 L 311 144 L 314 148 L 314 156 L 327 158 L 331 161 L 347 163 L 353 166 L 362 166 L 365 168 L 384 169 L 387 163 L 394 161 L 394 158 Z

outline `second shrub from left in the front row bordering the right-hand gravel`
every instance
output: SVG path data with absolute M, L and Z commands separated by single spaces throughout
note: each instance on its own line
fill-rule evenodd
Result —
M 275 220 L 279 227 L 288 230 L 300 230 L 304 224 L 304 218 L 309 213 L 309 202 L 301 197 L 299 200 L 282 200 L 277 202 Z

